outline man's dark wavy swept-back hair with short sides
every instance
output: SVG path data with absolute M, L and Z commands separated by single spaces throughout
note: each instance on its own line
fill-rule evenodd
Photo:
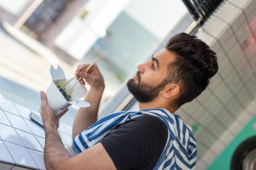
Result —
M 218 71 L 216 53 L 197 36 L 179 33 L 170 38 L 166 49 L 177 56 L 168 66 L 168 79 L 181 85 L 181 93 L 172 101 L 179 108 L 192 101 L 209 85 L 210 78 Z

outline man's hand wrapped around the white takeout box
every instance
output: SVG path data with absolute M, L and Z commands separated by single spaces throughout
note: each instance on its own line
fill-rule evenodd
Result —
M 53 112 L 53 109 L 49 106 L 47 103 L 47 97 L 44 91 L 40 91 L 40 97 L 41 97 L 41 108 L 40 108 L 40 114 L 42 116 L 42 122 L 44 124 L 44 128 L 51 127 L 51 128 L 59 128 L 59 119 L 61 116 L 63 116 L 67 109 L 61 112 L 61 114 L 56 115 L 55 112 Z

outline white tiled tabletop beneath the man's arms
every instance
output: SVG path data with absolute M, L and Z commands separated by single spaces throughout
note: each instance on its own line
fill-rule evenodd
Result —
M 6 99 L 0 98 L 0 169 L 46 169 L 44 166 L 44 130 L 32 122 L 31 111 Z M 59 134 L 71 156 L 72 127 L 60 122 Z

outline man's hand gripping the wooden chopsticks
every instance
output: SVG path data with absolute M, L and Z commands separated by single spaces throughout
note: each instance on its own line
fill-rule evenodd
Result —
M 80 77 L 82 79 L 79 81 L 82 85 L 85 85 L 86 83 L 84 80 L 91 86 L 98 88 L 105 87 L 104 79 L 102 77 L 102 74 L 100 73 L 100 70 L 98 69 L 97 65 L 92 65 L 90 70 L 87 73 L 84 73 L 83 70 L 86 69 L 89 65 L 79 65 L 77 66 L 77 69 L 75 71 L 75 77 L 78 80 Z

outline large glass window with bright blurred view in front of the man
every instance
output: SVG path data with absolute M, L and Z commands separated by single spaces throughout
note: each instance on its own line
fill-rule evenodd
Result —
M 176 0 L 0 0 L 0 12 L 0 95 L 36 111 L 51 65 L 71 78 L 77 65 L 98 58 L 106 82 L 102 110 L 170 32 L 192 21 Z M 72 124 L 76 110 L 63 122 Z

